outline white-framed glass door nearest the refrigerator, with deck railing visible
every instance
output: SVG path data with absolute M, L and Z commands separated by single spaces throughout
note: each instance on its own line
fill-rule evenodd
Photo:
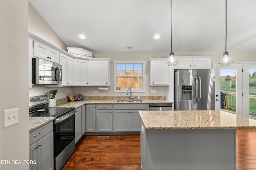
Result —
M 224 109 L 231 113 L 243 115 L 242 110 L 242 64 L 221 66 L 215 69 L 215 110 Z

